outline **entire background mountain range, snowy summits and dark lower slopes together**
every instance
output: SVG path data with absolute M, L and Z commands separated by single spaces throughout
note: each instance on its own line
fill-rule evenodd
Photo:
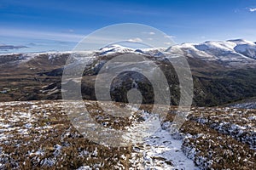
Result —
M 168 58 L 183 56 L 194 80 L 193 105 L 224 105 L 256 96 L 256 44 L 247 40 L 183 43 L 170 48 L 129 48 L 111 44 L 94 51 L 0 54 L 0 96 L 6 100 L 61 99 L 61 76 L 67 59 L 79 62 L 90 56 L 85 66 L 81 91 L 84 99 L 96 99 L 94 84 L 102 66 L 119 54 L 138 54 L 153 60 L 165 73 L 172 105 L 179 102 L 179 82 Z M 154 103 L 154 89 L 147 78 L 125 72 L 112 83 L 111 96 L 127 102 L 132 82 L 143 94 L 143 103 Z M 76 84 L 76 82 L 74 82 Z

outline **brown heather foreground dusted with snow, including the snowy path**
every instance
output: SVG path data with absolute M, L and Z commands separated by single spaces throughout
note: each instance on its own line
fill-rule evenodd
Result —
M 86 105 L 96 122 L 115 129 L 136 127 L 151 114 L 151 106 L 142 105 L 131 108 L 134 116 L 124 120 L 104 115 L 101 102 L 88 100 Z M 255 167 L 255 110 L 194 107 L 180 132 L 171 135 L 176 110 L 170 108 L 161 127 L 142 142 L 112 147 L 85 139 L 69 121 L 61 100 L 0 103 L 0 169 Z

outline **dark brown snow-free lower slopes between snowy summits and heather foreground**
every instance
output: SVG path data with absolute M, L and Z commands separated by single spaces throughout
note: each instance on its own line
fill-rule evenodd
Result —
M 61 99 L 61 67 L 65 65 L 66 59 L 67 55 L 61 55 L 55 60 L 49 60 L 48 56 L 43 54 L 37 59 L 32 59 L 20 65 L 10 64 L 9 59 L 5 59 L 7 63 L 0 67 L 0 91 L 3 91 L 0 94 L 0 101 Z M 111 59 L 111 57 L 108 57 L 108 59 Z M 98 62 L 104 62 L 104 60 L 105 58 L 102 58 Z M 98 62 L 92 63 L 89 69 L 84 71 L 81 87 L 84 99 L 96 99 L 94 84 L 97 71 L 101 69 L 95 67 Z M 155 60 L 155 63 L 160 65 L 160 68 L 166 74 L 166 79 L 172 85 L 170 88 L 172 105 L 178 105 L 178 80 L 172 65 L 159 60 Z M 256 95 L 256 88 L 254 88 L 256 87 L 255 68 L 234 69 L 200 59 L 189 59 L 189 64 L 194 78 L 194 105 L 224 105 Z M 135 75 L 134 77 L 138 76 Z M 138 84 L 139 89 L 143 92 L 143 102 L 154 103 L 151 84 L 142 76 L 139 79 L 142 80 Z M 126 102 L 126 92 L 131 89 L 132 81 L 124 75 L 120 75 L 115 81 L 123 82 L 123 86 L 113 88 L 113 99 Z M 57 87 L 57 90 L 52 90 L 55 87 Z

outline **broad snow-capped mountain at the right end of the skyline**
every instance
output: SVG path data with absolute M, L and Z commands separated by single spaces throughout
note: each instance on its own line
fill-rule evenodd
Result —
M 224 62 L 228 65 L 256 63 L 256 44 L 242 39 L 183 43 L 172 46 L 166 51 L 191 58 Z

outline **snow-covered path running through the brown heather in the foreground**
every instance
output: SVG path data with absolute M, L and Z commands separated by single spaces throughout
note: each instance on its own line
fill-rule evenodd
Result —
M 131 110 L 139 111 L 137 107 L 132 107 Z M 148 137 L 142 142 L 134 142 L 129 160 L 130 169 L 198 169 L 194 162 L 184 155 L 182 139 L 173 139 L 170 129 L 160 125 L 159 116 L 152 116 L 146 111 L 140 111 L 140 116 L 145 122 L 133 122 L 129 127 L 130 135 L 137 136 L 134 140 L 139 141 L 137 133 L 145 133 L 147 128 L 155 129 L 155 132 L 150 129 Z

